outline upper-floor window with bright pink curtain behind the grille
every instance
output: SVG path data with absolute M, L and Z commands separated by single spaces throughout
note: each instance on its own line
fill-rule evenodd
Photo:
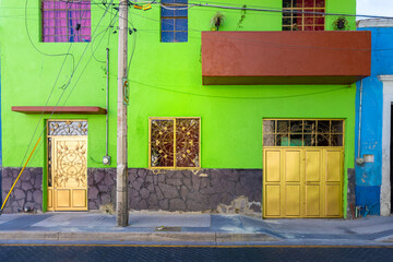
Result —
M 91 41 L 91 0 L 41 0 L 41 40 Z

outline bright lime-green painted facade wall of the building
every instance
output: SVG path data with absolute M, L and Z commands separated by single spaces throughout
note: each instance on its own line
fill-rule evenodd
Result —
M 247 0 L 241 1 L 241 4 L 234 0 L 226 2 L 237 7 L 247 4 L 250 8 L 282 8 L 282 2 L 277 0 L 258 3 Z M 326 0 L 326 13 L 355 14 L 355 2 Z M 92 4 L 92 43 L 50 44 L 40 43 L 39 0 L 27 1 L 26 20 L 25 3 L 25 0 L 0 0 L 3 167 L 20 167 L 31 140 L 33 142 L 29 150 L 45 126 L 44 121 L 38 122 L 39 115 L 12 112 L 11 107 L 44 106 L 64 59 L 64 56 L 45 56 L 35 50 L 27 38 L 26 25 L 34 45 L 40 51 L 50 55 L 70 52 L 78 67 L 70 85 L 63 92 L 61 87 L 68 83 L 73 68 L 69 56 L 49 106 L 55 106 L 61 97 L 59 106 L 105 107 L 106 76 L 103 61 L 106 58 L 106 48 L 109 47 L 109 155 L 112 157 L 110 167 L 115 167 L 118 34 L 112 32 L 118 23 L 115 28 L 106 29 L 116 11 L 110 9 L 100 21 L 105 7 Z M 217 11 L 203 7 L 189 9 L 188 43 L 160 43 L 159 7 L 153 4 L 147 11 L 130 9 L 130 21 L 138 32 L 129 36 L 129 53 L 134 48 L 129 71 L 129 167 L 148 167 L 150 117 L 201 117 L 202 168 L 262 168 L 263 118 L 345 119 L 345 170 L 353 168 L 355 84 L 202 85 L 201 32 L 210 31 L 210 21 Z M 247 11 L 239 26 L 240 10 L 219 11 L 226 17 L 221 28 L 223 31 L 282 28 L 282 14 L 277 12 Z M 326 29 L 333 29 L 332 23 L 336 17 L 326 16 Z M 355 19 L 348 17 L 348 21 L 350 29 L 356 29 Z M 94 49 L 96 59 L 102 62 L 92 58 Z M 45 115 L 44 119 L 48 117 L 49 115 Z M 100 164 L 105 155 L 105 116 L 55 115 L 53 118 L 87 119 L 88 167 L 108 167 Z M 37 132 L 33 136 L 36 127 Z M 45 168 L 44 143 L 28 166 Z M 346 200 L 346 190 L 344 194 Z

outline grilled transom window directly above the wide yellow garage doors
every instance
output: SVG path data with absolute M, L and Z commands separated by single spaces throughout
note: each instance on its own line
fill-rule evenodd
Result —
M 263 120 L 263 146 L 343 146 L 344 121 L 331 119 Z

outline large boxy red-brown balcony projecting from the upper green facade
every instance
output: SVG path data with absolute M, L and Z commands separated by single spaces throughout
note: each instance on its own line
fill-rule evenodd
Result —
M 370 32 L 202 32 L 204 85 L 352 84 L 370 68 Z

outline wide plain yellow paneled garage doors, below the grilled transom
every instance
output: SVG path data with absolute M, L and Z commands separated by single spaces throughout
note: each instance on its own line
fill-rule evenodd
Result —
M 264 147 L 263 217 L 342 217 L 343 147 Z

